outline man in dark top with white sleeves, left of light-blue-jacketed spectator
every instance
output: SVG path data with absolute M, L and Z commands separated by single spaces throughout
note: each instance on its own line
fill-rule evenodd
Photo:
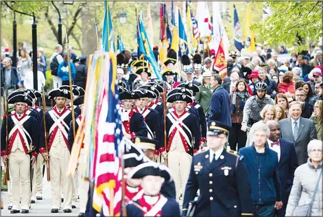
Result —
M 51 75 L 53 76 L 53 88 L 56 89 L 60 86 L 62 86 L 62 79 L 57 75 L 58 73 L 58 66 L 60 63 L 63 62 L 63 58 L 61 56 L 63 51 L 62 45 L 57 44 L 55 46 L 55 51 L 51 55 L 50 61 L 50 67 L 51 67 Z

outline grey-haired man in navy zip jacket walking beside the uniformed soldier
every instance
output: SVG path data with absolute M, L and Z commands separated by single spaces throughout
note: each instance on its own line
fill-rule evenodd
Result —
M 275 209 L 283 206 L 278 174 L 278 155 L 267 144 L 270 128 L 266 124 L 254 124 L 252 146 L 241 148 L 250 179 L 252 203 L 256 216 L 274 216 Z

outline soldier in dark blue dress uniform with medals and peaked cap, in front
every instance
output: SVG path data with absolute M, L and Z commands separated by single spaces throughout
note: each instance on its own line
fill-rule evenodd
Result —
M 209 123 L 209 150 L 193 156 L 182 216 L 252 216 L 250 183 L 243 157 L 224 148 L 229 129 L 222 122 Z M 187 209 L 198 189 L 200 196 L 192 203 L 193 214 Z

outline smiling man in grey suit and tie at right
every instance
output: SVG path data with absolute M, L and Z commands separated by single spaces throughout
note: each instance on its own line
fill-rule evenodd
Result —
M 278 122 L 281 129 L 280 138 L 294 143 L 298 165 L 307 162 L 307 144 L 309 144 L 309 141 L 318 139 L 314 122 L 300 117 L 301 113 L 302 107 L 300 102 L 291 102 L 289 104 L 290 117 L 281 119 Z

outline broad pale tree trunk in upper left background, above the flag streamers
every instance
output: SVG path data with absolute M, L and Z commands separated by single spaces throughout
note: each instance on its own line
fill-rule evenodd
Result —
M 93 10 L 92 10 L 93 11 Z M 82 55 L 88 56 L 97 50 L 97 39 L 95 36 L 94 12 L 91 12 L 89 5 L 84 5 L 81 12 L 82 20 Z

